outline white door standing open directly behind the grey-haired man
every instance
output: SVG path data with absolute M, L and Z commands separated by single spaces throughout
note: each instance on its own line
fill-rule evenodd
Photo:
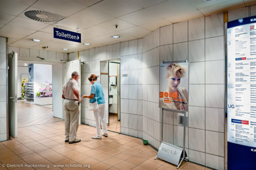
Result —
M 64 83 L 69 81 L 71 78 L 71 74 L 74 71 L 77 71 L 80 75 L 80 78 L 78 79 L 78 85 L 80 87 L 80 93 L 81 93 L 81 60 L 73 60 L 73 61 L 68 61 L 65 63 L 65 72 L 64 72 Z M 62 88 L 61 88 L 62 90 Z M 62 91 L 61 91 L 62 92 Z M 81 105 L 80 107 L 80 113 L 79 113 L 79 125 L 81 124 Z M 63 109 L 63 115 L 65 115 L 65 110 Z

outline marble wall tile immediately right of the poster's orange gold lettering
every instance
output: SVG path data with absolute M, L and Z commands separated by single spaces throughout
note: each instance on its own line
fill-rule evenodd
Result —
M 205 85 L 189 85 L 189 106 L 205 106 Z

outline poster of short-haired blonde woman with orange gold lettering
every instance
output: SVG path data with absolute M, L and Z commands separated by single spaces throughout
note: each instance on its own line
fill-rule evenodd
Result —
M 188 111 L 188 69 L 188 62 L 160 64 L 160 108 Z

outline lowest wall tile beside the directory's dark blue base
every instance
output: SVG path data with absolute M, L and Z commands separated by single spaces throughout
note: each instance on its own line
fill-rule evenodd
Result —
M 225 164 L 224 157 L 205 154 L 205 165 L 206 166 L 209 166 L 209 167 L 212 167 L 215 169 L 224 170 L 224 164 Z

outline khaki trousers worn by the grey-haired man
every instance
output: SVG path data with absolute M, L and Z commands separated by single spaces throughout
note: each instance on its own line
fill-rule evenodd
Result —
M 65 140 L 74 141 L 79 121 L 79 106 L 78 101 L 64 100 L 65 108 Z

